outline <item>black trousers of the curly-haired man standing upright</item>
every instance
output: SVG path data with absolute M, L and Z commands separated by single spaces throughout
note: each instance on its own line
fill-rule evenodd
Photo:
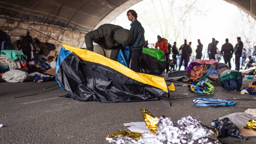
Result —
M 130 51 L 131 69 L 137 73 L 140 73 L 142 50 L 143 48 L 135 48 Z

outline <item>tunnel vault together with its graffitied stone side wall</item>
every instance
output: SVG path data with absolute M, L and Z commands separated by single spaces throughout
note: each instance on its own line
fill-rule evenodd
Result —
M 27 26 L 34 27 L 57 40 L 81 47 L 84 35 L 102 24 L 110 23 L 127 8 L 142 0 L 1 0 L 0 30 L 11 36 L 12 42 L 25 35 Z M 225 0 L 238 6 L 256 20 L 256 0 Z M 61 44 L 30 31 L 41 41 Z M 58 53 L 58 50 L 55 54 Z

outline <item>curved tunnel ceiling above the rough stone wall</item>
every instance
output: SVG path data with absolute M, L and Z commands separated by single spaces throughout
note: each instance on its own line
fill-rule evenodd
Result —
M 0 17 L 88 32 L 142 0 L 1 0 Z M 256 0 L 225 0 L 256 20 Z

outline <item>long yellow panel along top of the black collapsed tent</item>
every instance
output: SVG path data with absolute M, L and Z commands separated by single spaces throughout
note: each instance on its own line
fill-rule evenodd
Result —
M 62 46 L 65 49 L 70 50 L 71 52 L 74 52 L 80 59 L 98 63 L 98 64 L 101 64 L 104 66 L 108 66 L 108 67 L 124 74 L 127 77 L 130 77 L 130 78 L 137 80 L 141 83 L 144 83 L 144 84 L 147 84 L 147 85 L 150 85 L 153 87 L 157 87 L 159 89 L 164 90 L 165 92 L 168 92 L 167 85 L 165 83 L 164 78 L 162 78 L 162 77 L 157 77 L 157 76 L 152 76 L 152 75 L 142 74 L 142 73 L 136 73 L 133 70 L 131 70 L 130 68 L 125 67 L 124 65 L 122 65 L 121 63 L 119 63 L 117 61 L 114 61 L 112 59 L 109 59 L 107 57 L 104 57 L 102 55 L 99 55 L 97 53 L 94 53 L 94 52 L 91 52 L 88 50 L 76 48 L 73 46 L 67 46 L 65 44 L 62 44 Z

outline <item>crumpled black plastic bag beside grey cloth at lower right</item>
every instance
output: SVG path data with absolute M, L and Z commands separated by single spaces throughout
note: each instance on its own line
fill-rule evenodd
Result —
M 239 138 L 247 140 L 247 137 L 243 137 L 239 134 L 239 128 L 236 124 L 232 123 L 229 118 L 215 119 L 212 121 L 211 126 L 218 130 L 219 138 L 227 138 L 228 136 L 233 138 Z

